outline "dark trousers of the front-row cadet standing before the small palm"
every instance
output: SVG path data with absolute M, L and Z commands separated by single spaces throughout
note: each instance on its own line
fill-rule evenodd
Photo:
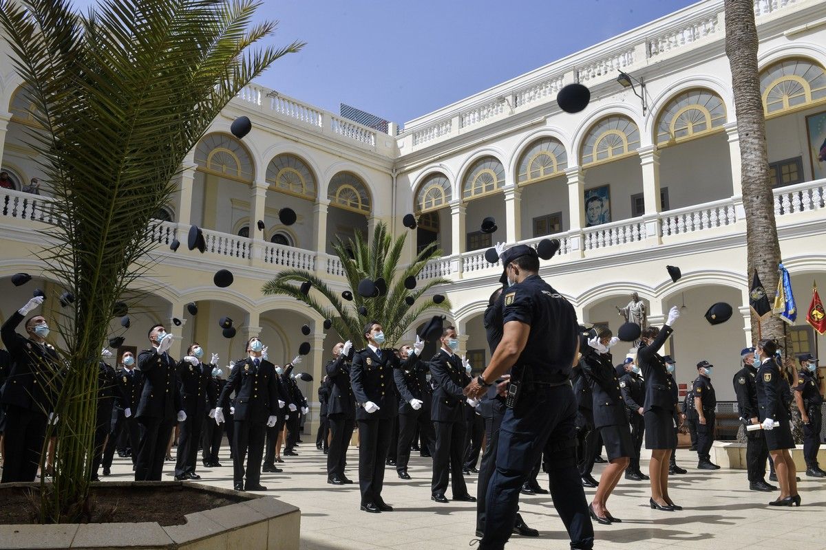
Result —
M 361 491 L 361 505 L 384 502 L 384 462 L 392 431 L 392 418 L 358 421 L 358 489 Z

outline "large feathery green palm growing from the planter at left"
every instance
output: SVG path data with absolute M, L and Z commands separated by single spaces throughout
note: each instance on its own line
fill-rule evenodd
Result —
M 276 59 L 252 49 L 275 22 L 251 26 L 253 0 L 2 0 L 0 25 L 39 130 L 28 134 L 55 192 L 40 257 L 74 294 L 59 319 L 54 482 L 41 522 L 88 520 L 97 358 L 126 290 L 151 269 L 152 216 L 175 190 L 187 153 L 212 120 Z M 122 313 L 120 313 L 122 314 Z M 46 439 L 48 441 L 48 437 Z M 45 456 L 45 453 L 44 453 Z M 42 466 L 42 464 L 41 464 Z

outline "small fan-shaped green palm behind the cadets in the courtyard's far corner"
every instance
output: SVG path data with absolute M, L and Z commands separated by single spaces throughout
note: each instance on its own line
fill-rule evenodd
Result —
M 394 239 L 384 223 L 377 224 L 373 240 L 369 244 L 358 232 L 355 240 L 348 239 L 348 242 L 336 237 L 333 247 L 344 267 L 347 284 L 353 289 L 352 302 L 344 300 L 329 284 L 306 270 L 282 271 L 275 279 L 263 285 L 263 294 L 283 294 L 306 303 L 320 317 L 330 319 L 339 336 L 344 340 L 353 341 L 355 346 L 364 341 L 365 322 L 376 321 L 384 329 L 387 346 L 395 346 L 408 327 L 428 309 L 450 310 L 448 299 L 439 304 L 435 304 L 432 299 L 413 305 L 406 303 L 406 297 L 411 296 L 414 300 L 420 300 L 423 294 L 437 284 L 448 284 L 450 281 L 439 277 L 430 279 L 413 290 L 406 289 L 406 278 L 415 278 L 419 275 L 425 264 L 440 256 L 441 251 L 436 249 L 435 243 L 431 243 L 419 252 L 410 266 L 401 268 L 398 264 L 405 240 L 406 233 Z M 387 281 L 387 294 L 368 299 L 358 294 L 356 289 L 359 281 L 379 278 Z M 316 289 L 325 300 L 322 302 L 317 299 L 312 290 L 307 294 L 302 293 L 301 287 L 296 283 L 304 282 L 311 283 L 311 288 Z M 367 315 L 358 314 L 358 308 L 361 307 L 367 308 Z

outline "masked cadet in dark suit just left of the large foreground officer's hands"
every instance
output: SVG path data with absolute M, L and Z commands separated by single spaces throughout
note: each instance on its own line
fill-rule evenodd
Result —
M 449 502 L 444 496 L 448 489 L 448 477 L 454 501 L 476 502 L 476 497 L 468 494 L 468 486 L 463 477 L 464 436 L 467 429 L 464 420 L 464 404 L 476 402 L 464 396 L 463 390 L 470 382 L 467 360 L 456 355 L 459 347 L 455 327 L 445 327 L 442 331 L 441 349 L 430 360 L 430 374 L 435 381 L 430 420 L 436 433 L 436 448 L 433 454 L 433 476 L 430 480 L 430 500 Z

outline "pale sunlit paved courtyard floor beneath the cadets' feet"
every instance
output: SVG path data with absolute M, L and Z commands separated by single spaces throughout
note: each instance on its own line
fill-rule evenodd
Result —
M 312 438 L 314 439 L 314 438 Z M 388 467 L 384 498 L 393 512 L 367 514 L 358 510 L 358 454 L 350 449 L 347 475 L 354 485 L 335 487 L 326 483 L 325 456 L 311 437 L 297 449 L 300 456 L 284 457 L 280 474 L 263 474 L 268 495 L 301 508 L 302 550 L 398 548 L 441 550 L 469 548 L 474 537 L 475 504 L 438 505 L 430 500 L 430 458 L 411 457 L 411 481 L 402 481 Z M 202 482 L 232 487 L 228 450 L 221 449 L 222 468 L 202 468 Z M 117 458 L 107 480 L 131 478 L 128 458 Z M 609 501 L 622 524 L 596 525 L 598 549 L 653 550 L 654 548 L 709 548 L 737 550 L 763 548 L 819 550 L 826 548 L 826 481 L 803 476 L 800 508 L 770 508 L 771 493 L 748 491 L 746 474 L 738 470 L 700 471 L 696 454 L 677 451 L 677 462 L 688 470 L 672 477 L 672 499 L 685 507 L 681 512 L 660 512 L 648 507 L 647 482 L 621 481 Z M 647 461 L 643 460 L 643 471 Z M 166 463 L 171 477 L 173 463 Z M 599 478 L 601 466 L 594 476 Z M 476 492 L 475 477 L 466 477 Z M 548 478 L 540 476 L 543 487 Z M 594 489 L 586 489 L 591 496 Z M 776 493 L 773 493 L 776 495 Z M 448 492 L 448 497 L 450 493 Z M 525 521 L 539 529 L 539 538 L 514 536 L 507 548 L 569 548 L 567 534 L 549 496 L 522 496 Z M 254 550 L 250 548 L 249 550 Z

